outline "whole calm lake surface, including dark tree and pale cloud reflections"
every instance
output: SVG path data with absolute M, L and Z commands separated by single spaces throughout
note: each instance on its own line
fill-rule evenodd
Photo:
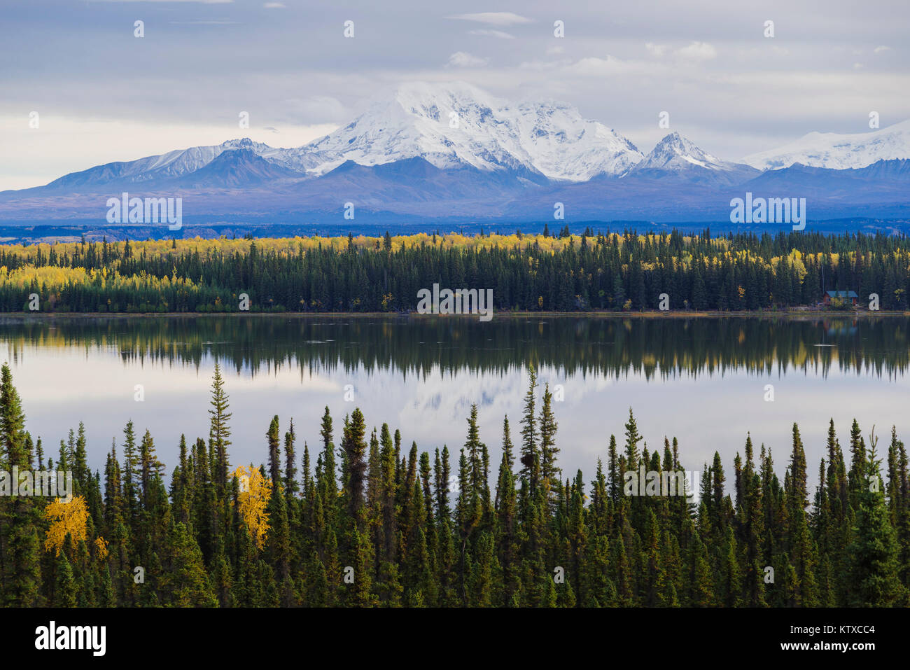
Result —
M 187 442 L 208 435 L 217 360 L 233 412 L 232 465 L 267 460 L 275 414 L 282 434 L 294 420 L 298 454 L 304 441 L 319 445 L 328 405 L 336 443 L 345 413 L 359 407 L 370 427 L 398 428 L 405 448 L 448 444 L 457 469 L 476 402 L 494 481 L 504 416 L 513 442 L 521 439 L 533 364 L 541 387 L 559 384 L 564 394 L 554 403 L 563 477 L 581 469 L 591 480 L 611 433 L 622 443 L 631 407 L 649 450 L 676 436 L 689 470 L 718 451 L 728 483 L 749 431 L 756 452 L 773 449 L 783 477 L 797 421 L 814 483 L 830 418 L 842 444 L 854 417 L 866 436 L 875 425 L 883 456 L 892 425 L 910 440 L 908 333 L 906 316 L 0 319 L 27 428 L 55 460 L 60 440 L 85 421 L 89 463 L 103 470 L 112 439 L 122 455 L 132 419 L 140 436 L 152 432 L 169 473 L 181 433 Z

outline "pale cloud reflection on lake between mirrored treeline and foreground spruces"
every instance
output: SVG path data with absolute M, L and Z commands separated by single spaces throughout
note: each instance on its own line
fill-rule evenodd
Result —
M 125 361 L 109 348 L 35 347 L 20 352 L 12 364 L 27 428 L 44 439 L 45 452 L 54 453 L 66 432 L 85 421 L 90 465 L 103 469 L 111 437 L 116 438 L 122 455 L 123 426 L 133 419 L 136 431 L 152 431 L 159 458 L 171 472 L 181 432 L 186 433 L 187 442 L 208 434 L 208 393 L 214 368 L 210 356 L 203 357 L 197 368 Z M 411 442 L 429 452 L 448 444 L 451 466 L 456 468 L 470 405 L 477 402 L 480 439 L 490 448 L 491 485 L 495 485 L 501 459 L 504 416 L 510 418 L 516 450 L 521 443 L 521 411 L 529 381 L 524 367 L 511 365 L 501 373 L 481 374 L 436 365 L 425 373 L 407 375 L 381 368 L 368 371 L 362 365 L 345 371 L 318 365 L 301 370 L 286 364 L 256 375 L 248 368 L 238 372 L 224 363 L 222 367 L 234 414 L 233 463 L 266 461 L 265 432 L 274 414 L 280 418 L 282 432 L 294 419 L 298 460 L 306 441 L 315 462 L 320 449 L 319 421 L 327 405 L 335 421 L 336 444 L 344 415 L 360 407 L 370 430 L 382 421 L 389 421 L 392 431 L 399 429 L 405 449 Z M 658 375 L 648 381 L 642 374 L 617 380 L 598 372 L 567 373 L 561 367 L 541 366 L 538 381 L 538 411 L 544 383 L 549 381 L 551 390 L 556 384 L 564 388 L 565 400 L 553 404 L 563 478 L 573 477 L 581 469 L 585 482 L 593 478 L 597 458 L 606 460 L 611 433 L 622 447 L 630 407 L 650 451 L 662 452 L 664 436 L 672 441 L 675 435 L 683 466 L 690 470 L 700 469 L 715 451 L 720 452 L 728 485 L 733 482 L 733 457 L 743 453 L 748 431 L 756 457 L 762 443 L 773 449 L 775 471 L 783 480 L 793 423 L 798 422 L 810 487 L 814 487 L 818 462 L 824 455 L 831 417 L 842 444 L 854 417 L 865 436 L 875 424 L 876 433 L 887 442 L 895 423 L 898 436 L 910 440 L 905 409 L 910 380 L 903 376 L 889 380 L 869 372 L 832 370 L 825 379 L 812 371 L 786 374 L 775 369 L 762 375 L 728 371 L 723 377 L 664 380 Z M 145 402 L 133 400 L 137 383 L 145 386 Z M 354 402 L 344 401 L 344 386 L 349 383 L 354 385 Z M 774 402 L 763 401 L 766 383 L 774 384 Z

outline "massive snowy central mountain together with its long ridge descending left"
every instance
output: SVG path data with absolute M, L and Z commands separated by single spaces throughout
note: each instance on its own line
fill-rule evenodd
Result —
M 571 105 L 552 101 L 511 105 L 461 82 L 413 83 L 374 98 L 347 126 L 303 147 L 231 139 L 212 147 L 91 167 L 45 188 L 173 182 L 238 149 L 297 172 L 300 178 L 322 177 L 348 161 L 370 167 L 423 158 L 440 169 L 508 172 L 531 183 L 575 182 L 621 175 L 643 158 L 628 139 L 581 117 Z

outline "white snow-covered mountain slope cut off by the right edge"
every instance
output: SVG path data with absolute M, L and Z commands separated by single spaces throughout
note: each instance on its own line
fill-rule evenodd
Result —
M 794 163 L 844 170 L 899 158 L 910 158 L 910 119 L 870 133 L 809 133 L 784 147 L 744 157 L 743 163 L 762 170 Z

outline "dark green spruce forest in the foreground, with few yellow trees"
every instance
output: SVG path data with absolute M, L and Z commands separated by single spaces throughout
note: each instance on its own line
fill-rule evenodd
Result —
M 631 410 L 590 479 L 561 472 L 551 401 L 531 369 L 515 442 L 503 421 L 498 467 L 476 405 L 457 454 L 408 447 L 386 423 L 370 430 L 359 410 L 337 426 L 327 408 L 319 427 L 304 429 L 319 431 L 312 452 L 293 422 L 282 436 L 276 416 L 263 422 L 266 464 L 236 467 L 216 366 L 207 439 L 181 440 L 168 483 L 152 434 L 140 437 L 132 421 L 103 473 L 86 465 L 82 425 L 55 462 L 26 431 L 4 365 L 3 469 L 72 471 L 76 497 L 0 498 L 0 598 L 63 607 L 907 604 L 910 482 L 894 430 L 883 463 L 875 431 L 867 441 L 854 421 L 844 449 L 832 421 L 811 505 L 799 428 L 783 483 L 771 449 L 746 437 L 733 471 L 718 453 L 704 464 L 695 504 L 626 490 L 625 472 L 683 469 L 675 439 L 649 452 Z

